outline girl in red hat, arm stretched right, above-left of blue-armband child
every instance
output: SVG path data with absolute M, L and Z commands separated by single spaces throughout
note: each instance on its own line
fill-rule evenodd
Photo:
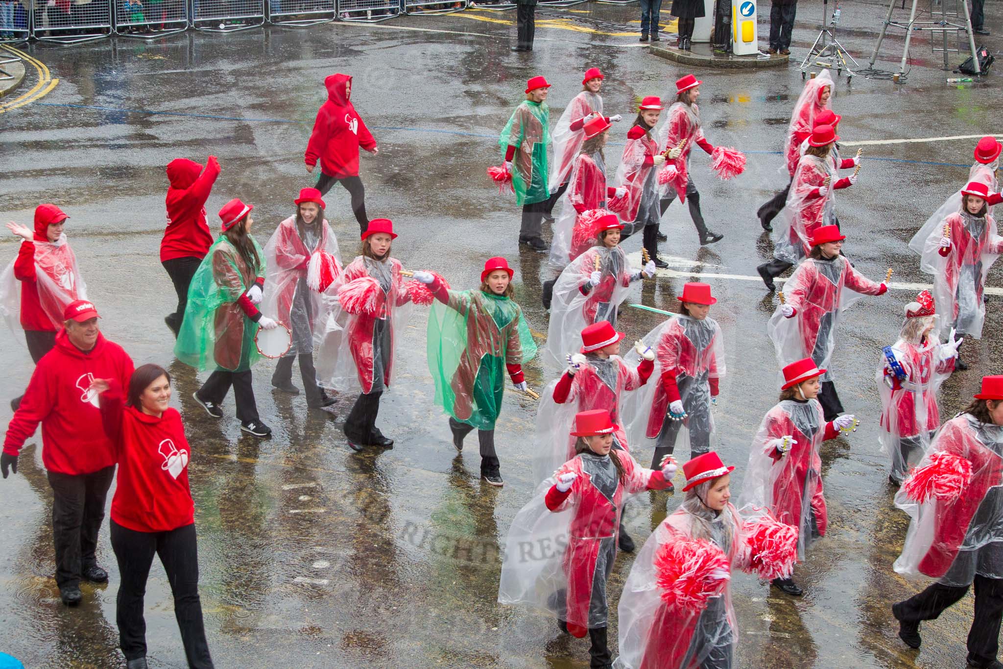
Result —
M 829 370 L 821 377 L 818 394 L 826 420 L 843 412 L 830 371 L 835 326 L 862 295 L 888 292 L 884 282 L 871 281 L 841 254 L 845 239 L 835 226 L 815 231 L 810 255 L 783 285 L 786 302 L 777 306 L 766 325 L 780 365 L 810 357 L 819 368 Z

